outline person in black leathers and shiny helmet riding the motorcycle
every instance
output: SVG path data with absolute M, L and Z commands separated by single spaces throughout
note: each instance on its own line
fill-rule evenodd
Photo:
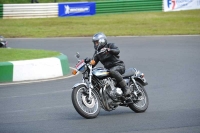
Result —
M 96 64 L 94 66 L 100 61 L 110 71 L 110 76 L 116 79 L 122 88 L 123 94 L 129 96 L 131 90 L 122 78 L 122 74 L 125 72 L 125 64 L 119 59 L 119 48 L 114 43 L 107 43 L 107 37 L 104 33 L 96 33 L 92 38 L 92 42 L 95 49 L 94 60 Z M 97 52 L 103 53 L 96 55 Z

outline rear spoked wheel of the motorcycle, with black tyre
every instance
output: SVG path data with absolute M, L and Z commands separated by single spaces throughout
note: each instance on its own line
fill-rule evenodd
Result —
M 144 87 L 137 82 L 138 89 L 141 91 L 141 95 L 139 97 L 133 96 L 133 103 L 129 104 L 129 108 L 135 111 L 136 113 L 145 112 L 149 105 L 149 99 L 146 90 Z M 131 85 L 133 87 L 133 85 Z

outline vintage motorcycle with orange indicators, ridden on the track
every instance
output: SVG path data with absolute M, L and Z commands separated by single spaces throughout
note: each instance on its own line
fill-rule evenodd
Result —
M 109 76 L 109 70 L 102 67 L 93 68 L 94 60 L 79 60 L 79 53 L 76 58 L 78 63 L 72 73 L 76 75 L 78 71 L 81 72 L 83 81 L 73 86 L 71 99 L 74 108 L 82 117 L 95 118 L 100 108 L 112 111 L 118 106 L 129 107 L 136 113 L 146 111 L 149 99 L 144 86 L 148 83 L 143 73 L 136 68 L 125 71 L 122 76 L 132 91 L 129 97 L 125 97 L 115 79 Z

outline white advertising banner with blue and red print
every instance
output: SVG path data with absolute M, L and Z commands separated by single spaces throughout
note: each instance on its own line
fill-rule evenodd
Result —
M 200 9 L 200 0 L 163 0 L 164 11 Z

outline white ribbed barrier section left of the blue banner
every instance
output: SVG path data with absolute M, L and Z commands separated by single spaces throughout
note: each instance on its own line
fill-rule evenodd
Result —
M 0 8 L 1 9 L 1 8 Z M 3 18 L 47 18 L 58 17 L 57 3 L 4 4 Z

